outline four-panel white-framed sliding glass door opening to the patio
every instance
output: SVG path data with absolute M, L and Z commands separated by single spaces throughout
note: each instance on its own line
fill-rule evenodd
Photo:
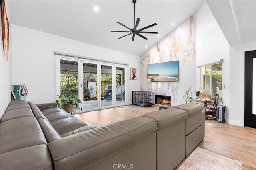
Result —
M 78 96 L 80 111 L 125 105 L 126 67 L 56 56 L 56 95 Z

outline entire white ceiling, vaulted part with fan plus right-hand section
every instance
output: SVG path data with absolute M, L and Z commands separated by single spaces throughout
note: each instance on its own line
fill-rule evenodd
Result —
M 224 6 L 220 2 L 211 1 L 208 5 L 230 45 L 255 41 L 256 1 L 232 1 L 231 3 L 226 1 L 227 3 Z M 137 0 L 136 18 L 140 18 L 139 27 L 142 28 L 157 23 L 156 26 L 144 31 L 159 32 L 160 37 L 154 34 L 143 34 L 148 38 L 148 40 L 145 40 L 136 35 L 134 41 L 131 41 L 132 35 L 118 39 L 126 33 L 110 32 L 128 31 L 128 29 L 116 23 L 117 21 L 130 28 L 134 27 L 134 4 L 132 0 L 18 0 L 9 1 L 8 3 L 10 5 L 9 18 L 11 24 L 140 56 L 194 14 L 202 1 Z M 220 5 L 222 8 L 219 9 Z M 99 7 L 98 12 L 94 11 L 94 6 Z M 225 10 L 230 6 L 231 10 Z M 228 17 L 224 17 L 222 20 L 221 16 Z M 233 18 L 235 24 L 230 25 L 226 21 L 230 18 L 231 20 Z M 174 23 L 174 25 L 171 23 Z M 230 27 L 234 32 L 237 31 L 235 39 L 230 38 L 234 33 L 231 35 L 226 33 L 229 32 Z M 239 41 L 237 41 L 237 38 Z M 145 45 L 148 47 L 145 47 Z

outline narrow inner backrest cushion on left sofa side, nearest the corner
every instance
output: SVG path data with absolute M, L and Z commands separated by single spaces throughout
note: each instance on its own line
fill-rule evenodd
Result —
M 38 123 L 40 124 L 40 126 L 44 132 L 46 141 L 48 143 L 50 143 L 54 140 L 57 140 L 57 139 L 61 139 L 60 135 L 55 131 L 55 129 L 52 127 L 52 125 L 50 124 L 50 122 L 47 119 L 39 118 Z

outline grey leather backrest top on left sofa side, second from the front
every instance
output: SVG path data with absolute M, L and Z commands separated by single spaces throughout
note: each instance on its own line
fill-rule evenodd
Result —
M 4 121 L 0 124 L 0 128 L 1 154 L 47 143 L 35 117 L 20 117 Z

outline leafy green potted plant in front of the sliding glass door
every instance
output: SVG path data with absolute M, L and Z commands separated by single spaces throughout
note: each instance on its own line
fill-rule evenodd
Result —
M 72 112 L 74 108 L 76 109 L 78 107 L 81 100 L 71 94 L 69 96 L 60 95 L 59 100 L 55 102 L 60 109 L 64 109 L 66 112 Z

